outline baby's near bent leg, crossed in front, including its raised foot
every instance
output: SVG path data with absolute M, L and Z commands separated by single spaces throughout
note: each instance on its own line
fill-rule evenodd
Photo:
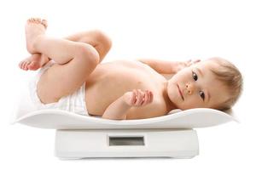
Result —
M 26 41 L 30 53 L 40 53 L 55 60 L 38 82 L 38 96 L 52 103 L 81 87 L 99 62 L 99 54 L 90 44 L 47 37 L 42 24 L 28 20 Z M 40 30 L 40 31 L 38 31 Z

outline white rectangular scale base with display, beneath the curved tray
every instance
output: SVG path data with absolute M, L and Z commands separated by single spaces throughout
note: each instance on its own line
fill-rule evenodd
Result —
M 199 154 L 193 129 L 57 130 L 55 156 L 192 158 Z

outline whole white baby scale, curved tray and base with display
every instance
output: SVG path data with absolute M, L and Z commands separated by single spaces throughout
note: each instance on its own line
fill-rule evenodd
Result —
M 24 95 L 26 96 L 26 95 Z M 196 108 L 139 120 L 107 120 L 69 111 L 37 110 L 22 99 L 13 117 L 31 127 L 56 129 L 55 156 L 191 158 L 199 154 L 194 128 L 236 121 L 228 112 Z

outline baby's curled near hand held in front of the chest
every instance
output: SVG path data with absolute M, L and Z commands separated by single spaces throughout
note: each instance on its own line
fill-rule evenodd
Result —
M 127 92 L 123 96 L 125 103 L 130 106 L 144 106 L 153 101 L 153 93 L 149 90 L 143 92 L 140 89 L 134 89 L 132 92 Z

